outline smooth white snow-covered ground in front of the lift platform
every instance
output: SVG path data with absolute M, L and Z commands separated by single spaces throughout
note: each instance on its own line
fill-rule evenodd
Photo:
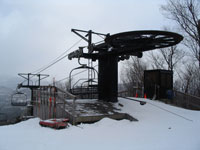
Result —
M 1 126 L 0 150 L 200 150 L 200 111 L 146 101 L 119 100 L 138 122 L 105 118 L 54 130 L 35 118 Z

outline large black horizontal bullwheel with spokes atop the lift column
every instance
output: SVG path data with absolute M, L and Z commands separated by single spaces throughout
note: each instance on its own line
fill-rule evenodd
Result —
M 119 51 L 119 54 L 127 54 L 173 46 L 182 39 L 181 35 L 173 32 L 143 30 L 108 35 L 105 42 Z

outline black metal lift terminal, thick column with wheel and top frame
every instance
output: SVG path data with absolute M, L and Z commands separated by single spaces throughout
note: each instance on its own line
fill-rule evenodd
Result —
M 88 43 L 88 53 L 84 53 L 83 50 L 72 52 L 69 54 L 69 59 L 82 57 L 88 59 L 89 64 L 98 60 L 99 99 L 109 102 L 118 101 L 119 61 L 129 59 L 130 56 L 141 58 L 144 51 L 173 46 L 183 40 L 183 37 L 177 33 L 157 30 L 131 31 L 114 35 L 78 29 L 72 29 L 72 32 Z M 87 35 L 84 37 L 79 32 L 87 33 Z M 105 37 L 104 43 L 97 45 L 92 43 L 92 34 L 103 35 Z

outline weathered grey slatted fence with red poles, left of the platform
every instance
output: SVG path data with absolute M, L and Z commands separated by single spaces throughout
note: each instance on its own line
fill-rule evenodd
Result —
M 69 103 L 68 101 L 71 101 Z M 71 107 L 74 124 L 76 119 L 76 96 L 57 87 L 42 87 L 34 90 L 34 116 L 42 119 L 66 117 L 66 105 Z

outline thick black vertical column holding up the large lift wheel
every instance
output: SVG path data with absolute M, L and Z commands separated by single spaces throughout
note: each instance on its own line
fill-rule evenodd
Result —
M 118 56 L 99 59 L 98 92 L 99 100 L 118 101 Z

